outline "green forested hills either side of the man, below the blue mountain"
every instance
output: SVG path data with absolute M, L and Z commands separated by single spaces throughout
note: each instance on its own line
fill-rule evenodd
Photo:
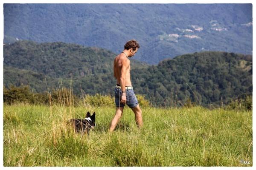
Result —
M 29 85 L 35 92 L 71 87 L 74 94 L 111 94 L 111 51 L 63 42 L 18 41 L 4 45 L 4 86 Z M 136 56 L 135 56 L 136 57 Z M 252 95 L 252 56 L 205 51 L 147 65 L 131 59 L 134 91 L 153 105 L 221 105 Z

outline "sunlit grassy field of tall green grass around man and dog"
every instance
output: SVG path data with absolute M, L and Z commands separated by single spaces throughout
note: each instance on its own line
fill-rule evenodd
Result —
M 143 108 L 138 130 L 125 106 L 108 133 L 114 107 L 18 104 L 3 110 L 4 166 L 252 166 L 252 111 Z M 67 120 L 87 111 L 96 112 L 90 135 L 69 130 Z

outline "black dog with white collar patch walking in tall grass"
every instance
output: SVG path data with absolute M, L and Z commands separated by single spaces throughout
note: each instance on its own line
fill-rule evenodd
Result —
M 90 112 L 87 112 L 84 119 L 70 119 L 69 123 L 75 128 L 78 133 L 87 133 L 89 134 L 90 129 L 93 129 L 95 124 L 95 112 L 93 115 L 90 115 Z

